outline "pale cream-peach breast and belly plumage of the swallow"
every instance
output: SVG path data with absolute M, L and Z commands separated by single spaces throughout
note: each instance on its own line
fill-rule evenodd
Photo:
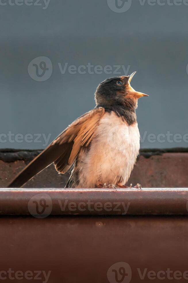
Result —
M 140 148 L 138 124 L 128 124 L 115 113 L 105 113 L 96 129 L 91 148 L 83 160 L 80 187 L 98 183 L 125 184 Z

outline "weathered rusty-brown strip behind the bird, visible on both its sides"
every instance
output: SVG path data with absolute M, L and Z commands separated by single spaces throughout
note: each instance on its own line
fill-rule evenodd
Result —
M 25 161 L 4 162 L 0 160 L 0 187 L 7 184 L 26 166 Z M 127 185 L 140 183 L 142 187 L 187 187 L 188 186 L 188 153 L 167 152 L 139 157 L 134 166 Z M 68 180 L 69 174 L 57 174 L 53 165 L 39 173 L 24 187 L 62 188 Z

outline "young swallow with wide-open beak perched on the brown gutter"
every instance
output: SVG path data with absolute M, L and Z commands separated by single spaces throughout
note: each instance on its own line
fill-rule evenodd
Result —
M 22 187 L 52 163 L 59 174 L 71 170 L 65 188 L 128 188 L 140 149 L 138 99 L 149 96 L 131 87 L 135 73 L 102 81 L 95 108 L 72 122 L 8 188 Z

